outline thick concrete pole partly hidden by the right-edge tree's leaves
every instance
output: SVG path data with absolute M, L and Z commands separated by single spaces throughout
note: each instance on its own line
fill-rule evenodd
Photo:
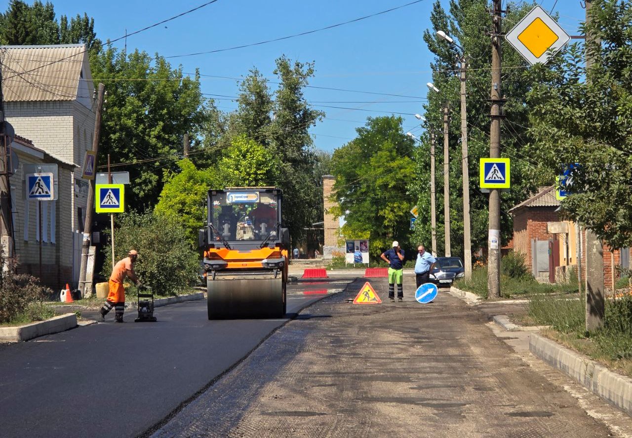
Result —
M 590 23 L 590 0 L 586 0 L 586 25 Z M 586 32 L 586 70 L 593 61 L 588 46 L 597 40 Z M 590 73 L 586 74 L 590 81 Z M 614 284 L 613 284 L 614 286 Z M 594 332 L 604 326 L 605 294 L 604 294 L 604 246 L 592 230 L 586 228 L 586 331 Z

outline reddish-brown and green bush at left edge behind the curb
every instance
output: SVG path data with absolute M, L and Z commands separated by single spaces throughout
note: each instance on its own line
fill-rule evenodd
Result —
M 39 279 L 28 274 L 16 274 L 17 261 L 4 258 L 0 252 L 0 324 L 31 322 L 42 315 L 44 298 L 52 291 L 39 284 Z

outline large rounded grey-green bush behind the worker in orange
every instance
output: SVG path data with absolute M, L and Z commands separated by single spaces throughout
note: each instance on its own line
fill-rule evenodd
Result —
M 137 250 L 136 274 L 156 295 L 178 295 L 195 284 L 200 269 L 198 253 L 177 219 L 131 212 L 118 216 L 118 226 L 114 236 L 116 260 L 126 257 L 132 248 Z M 103 275 L 107 278 L 112 271 L 111 246 L 103 250 Z

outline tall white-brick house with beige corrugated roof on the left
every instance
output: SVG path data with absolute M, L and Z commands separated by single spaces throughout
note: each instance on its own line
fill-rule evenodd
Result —
M 16 147 L 28 149 L 31 157 L 37 155 L 33 158 L 36 162 L 42 159 L 59 166 L 59 199 L 61 201 L 61 195 L 68 196 L 53 209 L 57 221 L 54 233 L 57 247 L 63 248 L 59 255 L 63 267 L 70 269 L 70 275 L 66 272 L 63 279 L 59 277 L 59 284 L 70 283 L 75 287 L 88 188 L 87 181 L 82 179 L 81 166 L 85 151 L 92 149 L 95 123 L 94 88 L 87 50 L 83 44 L 69 44 L 0 46 L 0 51 L 5 119 L 22 138 Z M 11 177 L 12 185 L 15 185 L 14 179 Z M 18 187 L 21 190 L 21 184 L 16 189 Z M 66 188 L 70 192 L 62 192 Z M 33 214 L 33 210 L 29 211 Z M 65 221 L 69 222 L 68 226 Z M 27 260 L 32 259 L 32 246 L 22 248 L 28 248 L 24 255 Z M 51 283 L 55 287 L 59 284 Z

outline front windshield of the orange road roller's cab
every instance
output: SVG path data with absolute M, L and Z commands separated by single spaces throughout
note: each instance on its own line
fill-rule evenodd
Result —
M 224 240 L 264 240 L 276 229 L 277 209 L 272 193 L 217 193 L 211 219 Z M 216 234 L 214 238 L 218 237 Z

